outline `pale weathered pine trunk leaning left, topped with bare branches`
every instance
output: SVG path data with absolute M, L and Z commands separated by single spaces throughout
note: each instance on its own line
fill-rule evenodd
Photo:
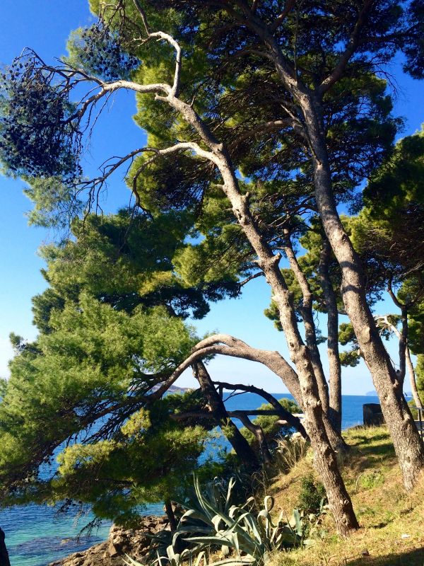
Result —
M 179 54 L 179 51 L 177 54 Z M 178 76 L 177 71 L 178 67 L 175 76 Z M 146 88 L 152 88 L 158 91 L 159 87 L 152 86 Z M 287 284 L 278 267 L 281 255 L 274 255 L 269 244 L 261 236 L 249 208 L 249 195 L 242 195 L 240 192 L 240 187 L 235 175 L 235 168 L 231 163 L 230 156 L 224 145 L 213 136 L 192 105 L 176 98 L 177 83 L 175 83 L 172 89 L 169 87 L 163 88 L 163 86 L 160 86 L 160 88 L 165 90 L 167 95 L 159 96 L 157 94 L 156 99 L 164 100 L 169 103 L 172 108 L 175 108 L 175 110 L 184 117 L 185 122 L 196 130 L 201 140 L 208 147 L 209 151 L 205 151 L 199 145 L 192 143 L 189 143 L 188 146 L 184 146 L 186 149 L 194 149 L 199 157 L 204 157 L 217 166 L 223 178 L 222 190 L 230 201 L 232 212 L 240 224 L 242 231 L 245 233 L 245 236 L 257 254 L 258 265 L 264 272 L 266 281 L 271 287 L 273 300 L 278 307 L 281 326 L 288 343 L 290 359 L 293 361 L 298 371 L 304 405 L 303 410 L 306 417 L 305 424 L 311 439 L 312 448 L 314 449 L 317 468 L 322 473 L 322 480 L 329 498 L 329 506 L 332 509 L 336 521 L 336 528 L 341 535 L 348 535 L 353 529 L 358 529 L 358 521 L 353 512 L 351 499 L 346 492 L 343 478 L 336 464 L 334 451 L 331 449 L 329 438 L 325 431 L 322 402 L 319 400 L 317 380 L 314 375 L 310 351 L 302 342 L 296 321 L 293 297 L 288 291 Z

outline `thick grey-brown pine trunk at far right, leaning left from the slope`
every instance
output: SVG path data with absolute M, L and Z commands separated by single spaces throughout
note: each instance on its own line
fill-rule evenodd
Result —
M 317 102 L 312 96 L 300 98 L 305 125 L 309 134 L 314 165 L 315 197 L 322 224 L 334 255 L 341 266 L 341 294 L 365 363 L 372 375 L 389 427 L 406 489 L 412 489 L 424 468 L 424 444 L 413 422 L 411 411 L 402 394 L 400 383 L 389 355 L 377 331 L 365 296 L 365 280 L 360 258 L 341 224 L 334 202 L 331 171 L 326 153 L 325 134 L 317 115 Z

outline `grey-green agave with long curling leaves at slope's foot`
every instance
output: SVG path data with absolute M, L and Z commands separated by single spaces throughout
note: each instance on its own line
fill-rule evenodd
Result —
M 199 478 L 194 477 L 195 497 L 179 520 L 177 530 L 172 533 L 172 543 L 166 548 L 166 556 L 158 554 L 155 560 L 158 566 L 165 562 L 170 566 L 181 566 L 182 562 L 184 565 L 200 566 L 204 562 L 206 566 L 205 550 L 211 547 L 220 547 L 228 558 L 210 566 L 261 566 L 273 551 L 302 543 L 305 521 L 298 509 L 289 521 L 283 512 L 272 518 L 274 500 L 270 495 L 264 497 L 259 512 L 254 511 L 253 497 L 249 497 L 245 504 L 234 505 L 231 503 L 234 486 L 235 478 L 231 478 L 226 489 L 215 481 L 202 490 Z M 189 548 L 177 552 L 183 541 Z M 134 560 L 126 564 L 139 566 Z

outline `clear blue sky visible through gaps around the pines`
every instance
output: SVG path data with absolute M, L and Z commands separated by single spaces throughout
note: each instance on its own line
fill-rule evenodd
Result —
M 87 0 L 2 0 L 0 21 L 0 63 L 8 64 L 23 47 L 33 47 L 45 60 L 52 61 L 65 53 L 66 38 L 71 30 L 93 21 Z M 398 83 L 396 115 L 406 117 L 404 134 L 410 134 L 424 121 L 424 83 L 412 81 L 394 64 L 392 74 Z M 86 171 L 95 173 L 96 163 L 106 156 L 124 155 L 127 150 L 143 143 L 143 132 L 134 125 L 134 96 L 120 94 L 112 108 L 100 120 L 86 156 Z M 42 260 L 37 248 L 54 240 L 55 234 L 29 227 L 25 212 L 30 202 L 22 194 L 23 183 L 0 175 L 2 195 L 0 207 L 0 375 L 6 376 L 7 361 L 11 357 L 8 335 L 11 331 L 33 339 L 36 329 L 32 325 L 31 297 L 45 289 L 40 275 Z M 105 210 L 114 212 L 129 200 L 129 190 L 119 177 L 115 177 L 105 195 Z M 269 305 L 270 291 L 262 278 L 254 280 L 245 289 L 242 299 L 223 301 L 213 305 L 211 313 L 196 322 L 199 333 L 219 330 L 242 338 L 249 344 L 269 350 L 279 350 L 285 357 L 284 337 L 274 330 L 263 316 Z M 377 311 L 387 312 L 391 306 L 382 303 Z M 325 333 L 325 320 L 320 320 Z M 390 345 L 396 359 L 396 345 Z M 322 349 L 325 359 L 325 347 Z M 227 381 L 266 386 L 271 391 L 285 391 L 281 381 L 269 371 L 252 364 L 223 357 L 210 365 L 215 378 Z M 189 374 L 179 381 L 182 386 L 192 384 Z M 343 393 L 359 395 L 372 389 L 372 382 L 364 364 L 343 370 Z

